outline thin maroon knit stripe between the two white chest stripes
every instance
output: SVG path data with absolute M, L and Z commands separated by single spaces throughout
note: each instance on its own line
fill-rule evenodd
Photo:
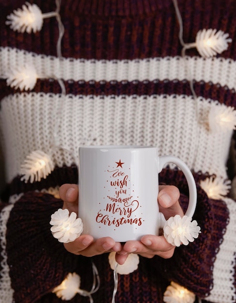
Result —
M 161 95 L 161 94 L 184 94 L 191 96 L 189 82 L 184 81 L 169 81 L 168 79 L 164 81 L 110 81 L 110 82 L 85 82 L 85 81 L 65 81 L 65 89 L 67 94 L 73 95 Z M 235 91 L 230 90 L 227 87 L 219 87 L 218 84 L 194 82 L 194 90 L 197 96 L 201 96 L 205 99 L 211 98 L 212 100 L 217 100 L 221 104 L 226 106 L 234 106 L 236 103 Z M 56 80 L 37 80 L 35 88 L 32 90 L 35 92 L 44 91 L 45 93 L 61 93 L 61 87 Z M 20 90 L 14 90 L 10 87 L 6 87 L 5 80 L 0 81 L 0 99 L 9 94 L 15 92 L 21 92 Z

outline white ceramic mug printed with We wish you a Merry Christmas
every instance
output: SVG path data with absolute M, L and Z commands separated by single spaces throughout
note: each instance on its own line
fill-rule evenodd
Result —
M 186 164 L 173 156 L 158 156 L 148 146 L 88 146 L 79 148 L 79 217 L 83 234 L 116 242 L 158 235 L 165 219 L 158 209 L 158 173 L 167 163 L 178 166 L 189 185 L 192 217 L 196 184 Z

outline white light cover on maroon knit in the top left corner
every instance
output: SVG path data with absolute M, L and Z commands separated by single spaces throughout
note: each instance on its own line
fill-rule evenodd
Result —
M 42 29 L 43 14 L 36 4 L 26 2 L 22 9 L 14 10 L 12 14 L 7 16 L 6 25 L 10 25 L 12 30 L 18 32 L 36 32 Z

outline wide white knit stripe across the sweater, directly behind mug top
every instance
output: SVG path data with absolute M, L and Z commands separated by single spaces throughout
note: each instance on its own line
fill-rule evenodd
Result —
M 196 107 L 196 101 L 185 95 L 9 95 L 1 101 L 0 111 L 7 181 L 16 177 L 32 151 L 50 154 L 62 167 L 77 164 L 79 146 L 91 144 L 157 146 L 160 155 L 177 156 L 195 171 L 226 178 L 232 131 L 210 131 L 207 116 L 218 103 L 204 98 L 197 102 Z M 220 112 L 226 107 L 218 106 Z

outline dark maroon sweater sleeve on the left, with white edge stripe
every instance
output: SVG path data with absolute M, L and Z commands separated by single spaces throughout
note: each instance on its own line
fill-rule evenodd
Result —
M 50 231 L 50 215 L 60 207 L 60 199 L 29 192 L 2 209 L 1 302 L 13 302 L 12 296 L 14 302 L 35 302 L 75 270 L 78 256 L 68 253 Z

